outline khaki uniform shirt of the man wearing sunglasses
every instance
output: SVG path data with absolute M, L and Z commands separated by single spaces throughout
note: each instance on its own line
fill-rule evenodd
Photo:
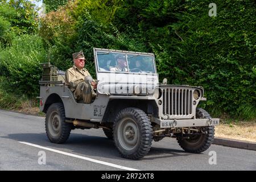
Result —
M 69 68 L 66 71 L 65 84 L 69 86 L 69 88 L 71 88 L 71 91 L 73 92 L 74 90 L 76 90 L 77 85 L 80 82 L 84 81 L 85 76 L 90 76 L 90 73 L 87 71 L 87 69 L 85 68 L 78 69 L 76 65 L 73 65 L 72 68 Z M 93 90 L 93 86 L 92 86 L 92 90 Z

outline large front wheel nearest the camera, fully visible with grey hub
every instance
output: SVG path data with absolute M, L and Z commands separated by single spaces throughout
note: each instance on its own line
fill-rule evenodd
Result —
M 127 107 L 114 120 L 114 143 L 126 159 L 141 159 L 150 151 L 152 143 L 151 123 L 141 109 Z

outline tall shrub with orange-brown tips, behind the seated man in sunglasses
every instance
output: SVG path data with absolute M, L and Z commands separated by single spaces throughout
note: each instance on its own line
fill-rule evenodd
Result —
M 41 19 L 39 35 L 42 36 L 48 60 L 59 69 L 72 65 L 72 53 L 76 47 L 75 19 L 70 15 L 75 3 L 69 3 L 56 11 L 51 11 Z

